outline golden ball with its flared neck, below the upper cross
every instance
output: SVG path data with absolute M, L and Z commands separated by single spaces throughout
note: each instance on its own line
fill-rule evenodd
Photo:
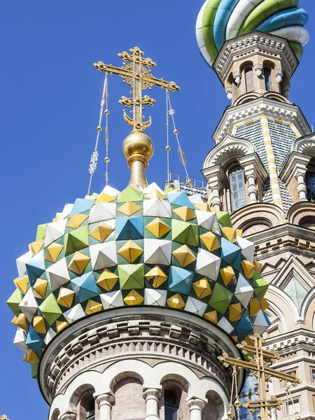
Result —
M 144 131 L 133 130 L 123 141 L 122 150 L 131 169 L 129 183 L 146 186 L 148 183 L 144 169 L 153 155 L 153 141 Z

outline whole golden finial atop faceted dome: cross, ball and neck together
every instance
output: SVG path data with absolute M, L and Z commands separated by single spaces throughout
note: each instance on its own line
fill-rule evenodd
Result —
M 132 54 L 126 51 L 118 54 L 118 57 L 123 59 L 122 67 L 115 67 L 103 62 L 95 63 L 94 67 L 101 72 L 107 71 L 110 74 L 118 74 L 123 79 L 123 83 L 132 87 L 132 98 L 123 96 L 119 101 L 127 108 L 133 107 L 130 111 L 132 118 L 127 116 L 125 110 L 123 114 L 126 123 L 133 127 L 131 134 L 123 142 L 123 154 L 127 159 L 127 165 L 131 169 L 129 184 L 147 186 L 145 169 L 153 155 L 153 142 L 143 131 L 150 127 L 151 117 L 144 121 L 142 111 L 144 105 L 153 106 L 155 99 L 148 97 L 148 95 L 143 97 L 142 91 L 145 89 L 151 90 L 155 85 L 175 92 L 179 90 L 179 86 L 174 82 L 167 82 L 162 78 L 158 79 L 152 76 L 151 67 L 156 64 L 151 58 L 142 57 L 144 52 L 138 47 L 132 48 L 130 52 Z

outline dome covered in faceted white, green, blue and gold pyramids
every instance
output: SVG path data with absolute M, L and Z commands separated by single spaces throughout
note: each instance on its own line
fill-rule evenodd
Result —
M 39 225 L 18 258 L 14 342 L 36 364 L 73 321 L 128 305 L 189 311 L 241 342 L 269 325 L 268 283 L 253 255 L 229 214 L 197 195 L 107 186 Z

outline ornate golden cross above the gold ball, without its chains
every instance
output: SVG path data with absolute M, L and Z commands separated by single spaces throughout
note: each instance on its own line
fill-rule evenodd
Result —
M 94 67 L 96 67 L 98 71 L 118 74 L 123 79 L 123 83 L 127 83 L 132 87 L 132 92 L 130 92 L 132 93 L 132 98 L 123 96 L 119 101 L 120 104 L 127 106 L 127 108 L 133 106 L 133 111 L 131 111 L 133 118 L 127 116 L 124 110 L 124 119 L 129 125 L 134 127 L 134 130 L 145 130 L 151 125 L 151 117 L 148 121 L 143 121 L 143 106 L 153 106 L 155 99 L 148 97 L 148 95 L 142 97 L 142 90 L 151 90 L 152 86 L 155 85 L 175 92 L 176 90 L 179 90 L 179 86 L 174 82 L 167 82 L 162 78 L 158 79 L 152 76 L 151 67 L 156 66 L 156 64 L 151 58 L 142 57 L 144 52 L 138 47 L 132 48 L 130 52 L 132 52 L 132 54 L 129 54 L 126 51 L 118 54 L 118 57 L 123 59 L 122 67 L 115 67 L 111 64 L 104 64 L 103 62 L 95 63 Z

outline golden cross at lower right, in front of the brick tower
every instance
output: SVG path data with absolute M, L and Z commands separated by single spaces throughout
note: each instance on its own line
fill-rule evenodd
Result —
M 268 420 L 270 409 L 281 409 L 283 402 L 278 400 L 274 395 L 269 399 L 267 398 L 266 382 L 271 382 L 272 378 L 278 378 L 290 382 L 293 386 L 297 386 L 297 384 L 301 384 L 302 381 L 296 377 L 294 372 L 287 374 L 281 372 L 281 370 L 274 370 L 271 365 L 275 363 L 276 360 L 279 360 L 280 356 L 273 350 L 267 351 L 263 349 L 262 346 L 265 343 L 265 340 L 260 337 L 259 334 L 251 335 L 250 338 L 253 340 L 253 345 L 247 344 L 245 341 L 241 342 L 241 344 L 237 344 L 237 347 L 244 355 L 248 353 L 253 354 L 253 356 L 248 355 L 248 361 L 241 360 L 241 358 L 236 359 L 229 357 L 228 353 L 223 353 L 218 359 L 221 360 L 223 366 L 232 366 L 234 369 L 238 367 L 239 369 L 249 370 L 251 375 L 258 379 L 256 383 L 258 386 L 258 400 L 251 401 L 249 398 L 246 398 L 243 407 L 248 408 L 252 413 L 254 413 L 256 409 L 260 409 L 260 420 Z

